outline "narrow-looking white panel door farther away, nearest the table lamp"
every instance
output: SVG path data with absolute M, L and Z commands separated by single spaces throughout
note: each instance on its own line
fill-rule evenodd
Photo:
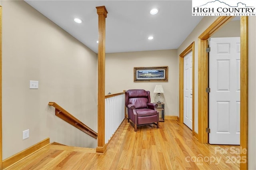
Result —
M 184 119 L 183 122 L 192 129 L 192 51 L 184 57 Z

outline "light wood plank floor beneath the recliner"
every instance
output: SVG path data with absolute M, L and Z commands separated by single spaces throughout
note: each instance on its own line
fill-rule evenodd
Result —
M 234 170 L 239 169 L 238 150 L 239 146 L 200 144 L 191 130 L 177 121 L 160 122 L 159 129 L 138 127 L 134 132 L 125 120 L 104 155 L 96 154 L 94 148 L 50 144 L 7 169 Z

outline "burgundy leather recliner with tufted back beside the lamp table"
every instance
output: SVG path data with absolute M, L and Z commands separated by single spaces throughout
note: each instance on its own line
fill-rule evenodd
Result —
M 134 126 L 155 124 L 159 128 L 159 112 L 157 104 L 150 103 L 150 91 L 131 89 L 125 91 L 125 106 L 128 108 L 128 122 Z

